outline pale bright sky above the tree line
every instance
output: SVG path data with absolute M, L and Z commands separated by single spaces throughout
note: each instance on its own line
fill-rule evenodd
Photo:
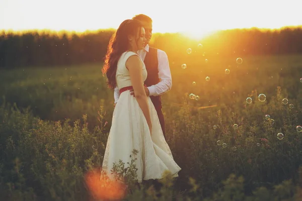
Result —
M 135 14 L 153 18 L 154 32 L 199 36 L 233 28 L 302 25 L 297 0 L 0 0 L 0 30 L 85 31 L 117 28 Z M 149 5 L 147 4 L 149 3 Z

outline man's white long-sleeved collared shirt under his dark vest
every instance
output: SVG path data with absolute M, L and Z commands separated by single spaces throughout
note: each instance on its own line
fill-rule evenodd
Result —
M 144 61 L 144 58 L 149 52 L 149 45 L 146 45 L 143 49 L 138 50 L 138 56 Z M 159 70 L 159 78 L 160 82 L 148 86 L 147 88 L 149 89 L 149 95 L 161 95 L 167 91 L 169 91 L 172 87 L 172 76 L 171 76 L 171 71 L 170 71 L 170 66 L 169 66 L 169 60 L 166 52 L 163 50 L 158 49 L 158 70 Z M 119 99 L 119 89 L 116 86 L 114 88 L 114 103 L 116 104 L 118 99 Z

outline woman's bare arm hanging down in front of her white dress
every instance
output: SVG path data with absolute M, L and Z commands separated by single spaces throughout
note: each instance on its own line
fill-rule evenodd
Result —
M 126 61 L 126 68 L 129 70 L 130 79 L 136 100 L 146 118 L 150 133 L 152 133 L 152 123 L 148 105 L 147 95 L 142 81 L 142 63 L 137 55 L 130 56 Z

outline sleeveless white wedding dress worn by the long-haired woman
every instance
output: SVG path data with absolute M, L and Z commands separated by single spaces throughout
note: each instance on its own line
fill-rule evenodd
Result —
M 119 89 L 132 85 L 125 65 L 127 59 L 132 55 L 137 54 L 130 51 L 124 52 L 118 61 L 116 82 Z M 143 61 L 141 62 L 144 81 L 147 77 L 147 71 Z M 130 155 L 133 149 L 138 150 L 134 157 L 137 158 L 135 165 L 138 182 L 161 179 L 166 170 L 169 170 L 173 177 L 178 176 L 181 168 L 173 159 L 171 150 L 164 138 L 157 112 L 149 96 L 148 104 L 152 121 L 152 135 L 150 135 L 147 121 L 136 98 L 130 95 L 129 90 L 120 94 L 113 112 L 112 126 L 102 165 L 102 169 L 109 178 L 113 177 L 111 175 L 113 163 L 118 164 L 119 160 L 122 160 L 125 167 L 129 166 L 127 162 L 131 162 Z

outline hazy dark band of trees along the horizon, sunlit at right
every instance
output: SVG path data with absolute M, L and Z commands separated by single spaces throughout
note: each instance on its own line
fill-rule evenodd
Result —
M 0 33 L 0 67 L 58 66 L 102 62 L 114 30 L 56 33 L 31 31 Z M 181 34 L 154 34 L 152 46 L 163 49 L 170 60 L 185 56 L 201 43 L 207 55 L 247 56 L 302 53 L 302 28 L 281 30 L 235 29 L 216 32 L 201 41 Z

